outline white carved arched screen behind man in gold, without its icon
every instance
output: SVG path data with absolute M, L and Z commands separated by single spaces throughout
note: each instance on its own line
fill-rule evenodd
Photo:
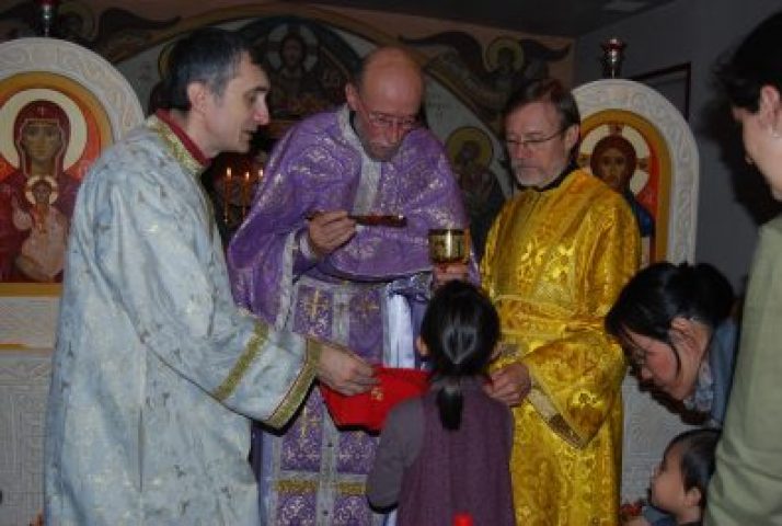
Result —
M 679 111 L 645 84 L 629 80 L 598 80 L 574 90 L 586 134 L 601 125 L 626 125 L 644 135 L 656 152 L 660 178 L 657 225 L 665 228 L 666 247 L 657 260 L 693 261 L 698 213 L 699 159 L 692 133 Z M 584 134 L 583 134 L 584 135 Z M 588 137 L 588 135 L 587 135 Z M 649 476 L 668 442 L 687 427 L 667 402 L 642 390 L 635 376 L 622 385 L 624 433 L 622 500 L 646 498 Z

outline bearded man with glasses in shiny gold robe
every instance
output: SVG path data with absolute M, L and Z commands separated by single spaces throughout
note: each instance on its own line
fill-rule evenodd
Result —
M 516 420 L 516 521 L 616 525 L 625 362 L 603 316 L 637 270 L 639 228 L 621 195 L 573 164 L 580 118 L 570 92 L 538 80 L 507 107 L 524 190 L 488 233 L 482 276 L 504 338 L 488 390 Z

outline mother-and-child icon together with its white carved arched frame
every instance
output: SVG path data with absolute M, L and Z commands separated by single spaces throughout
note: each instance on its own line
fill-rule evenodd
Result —
M 0 296 L 57 295 L 81 181 L 142 118 L 102 57 L 70 42 L 0 44 Z

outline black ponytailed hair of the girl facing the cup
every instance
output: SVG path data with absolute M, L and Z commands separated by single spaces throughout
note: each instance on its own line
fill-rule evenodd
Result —
M 499 318 L 479 288 L 452 281 L 437 289 L 424 315 L 421 339 L 429 350 L 440 422 L 446 430 L 461 425 L 461 377 L 485 371 L 499 339 Z

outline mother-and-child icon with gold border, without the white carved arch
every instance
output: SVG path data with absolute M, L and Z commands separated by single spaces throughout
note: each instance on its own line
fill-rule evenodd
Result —
M 108 119 L 69 79 L 22 73 L 0 84 L 0 282 L 61 282 L 76 194 L 111 141 Z

